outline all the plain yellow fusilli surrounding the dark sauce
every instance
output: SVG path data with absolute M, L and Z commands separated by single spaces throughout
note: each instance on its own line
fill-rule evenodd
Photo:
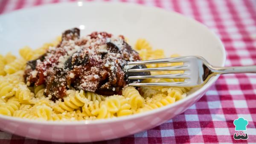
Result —
M 84 90 L 67 90 L 67 96 L 52 101 L 46 96 L 45 85 L 27 87 L 23 73 L 26 62 L 44 54 L 55 42 L 44 44 L 33 50 L 29 47 L 20 49 L 21 58 L 12 54 L 0 55 L 0 114 L 24 119 L 46 121 L 79 121 L 107 119 L 128 116 L 172 104 L 186 97 L 190 88 L 170 87 L 125 87 L 122 95 L 102 96 Z M 164 58 L 163 50 L 153 50 L 149 42 L 139 39 L 135 48 L 143 60 Z M 177 55 L 172 55 L 177 56 Z M 147 65 L 149 68 L 183 65 L 167 63 Z M 152 72 L 156 74 L 184 73 L 184 71 Z M 145 79 L 144 82 L 180 82 L 184 79 Z

